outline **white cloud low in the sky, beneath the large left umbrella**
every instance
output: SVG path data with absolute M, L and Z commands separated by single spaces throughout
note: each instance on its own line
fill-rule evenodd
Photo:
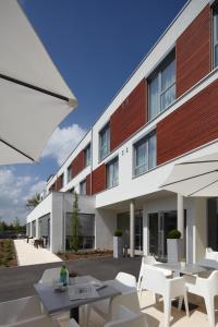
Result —
M 0 169 L 0 217 L 12 222 L 19 217 L 25 222 L 27 215 L 26 199 L 41 192 L 46 181 L 31 175 L 16 175 L 14 169 Z

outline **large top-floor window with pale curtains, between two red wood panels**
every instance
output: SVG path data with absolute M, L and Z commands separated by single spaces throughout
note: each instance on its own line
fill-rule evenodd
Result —
M 148 81 L 149 120 L 165 111 L 175 98 L 174 52 Z

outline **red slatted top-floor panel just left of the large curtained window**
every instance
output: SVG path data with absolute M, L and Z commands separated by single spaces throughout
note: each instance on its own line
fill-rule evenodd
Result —
M 147 122 L 147 82 L 135 87 L 110 118 L 110 150 L 134 134 Z

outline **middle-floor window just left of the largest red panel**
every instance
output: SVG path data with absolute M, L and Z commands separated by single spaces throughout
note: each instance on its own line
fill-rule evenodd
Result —
M 134 174 L 138 175 L 156 167 L 156 133 L 152 133 L 134 145 Z

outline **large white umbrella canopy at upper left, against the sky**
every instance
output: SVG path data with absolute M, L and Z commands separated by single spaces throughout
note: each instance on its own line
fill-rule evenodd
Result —
M 0 165 L 32 162 L 76 99 L 15 0 L 0 1 Z

